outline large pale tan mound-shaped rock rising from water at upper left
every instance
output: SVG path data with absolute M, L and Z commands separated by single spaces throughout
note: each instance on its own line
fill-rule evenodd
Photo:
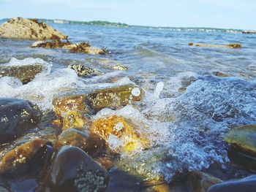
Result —
M 17 39 L 67 39 L 56 29 L 34 19 L 12 18 L 0 26 L 0 37 Z

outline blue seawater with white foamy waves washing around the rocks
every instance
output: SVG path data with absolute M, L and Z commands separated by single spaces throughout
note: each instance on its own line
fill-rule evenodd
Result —
M 48 112 L 59 92 L 140 85 L 145 91 L 143 101 L 121 110 L 103 109 L 93 117 L 131 118 L 150 139 L 148 150 L 123 154 L 120 169 L 147 178 L 164 177 L 167 182 L 176 174 L 207 169 L 211 164 L 225 169 L 227 131 L 256 123 L 256 36 L 225 30 L 49 25 L 67 34 L 71 42 L 108 47 L 111 54 L 30 48 L 33 41 L 0 39 L 0 65 L 44 66 L 26 85 L 12 77 L 0 78 L 0 96 L 29 99 Z M 241 43 L 242 48 L 189 47 L 189 42 Z M 83 79 L 67 68 L 69 64 L 85 64 L 104 75 Z M 128 70 L 114 71 L 113 64 Z M 214 72 L 229 77 L 217 77 Z

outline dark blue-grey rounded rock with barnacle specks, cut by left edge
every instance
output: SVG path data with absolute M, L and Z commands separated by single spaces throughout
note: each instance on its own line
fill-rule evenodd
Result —
M 42 113 L 35 104 L 21 99 L 0 99 L 0 143 L 13 141 L 39 123 Z

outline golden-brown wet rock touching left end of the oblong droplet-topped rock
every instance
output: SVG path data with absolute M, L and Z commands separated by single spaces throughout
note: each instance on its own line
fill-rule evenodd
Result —
M 63 118 L 70 111 L 90 113 L 86 105 L 85 94 L 57 95 L 53 97 L 53 110 L 58 118 Z

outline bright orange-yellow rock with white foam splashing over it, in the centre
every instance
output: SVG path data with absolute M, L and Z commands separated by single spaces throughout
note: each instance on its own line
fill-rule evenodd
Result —
M 91 132 L 104 138 L 117 153 L 131 153 L 148 146 L 148 140 L 136 132 L 131 120 L 118 115 L 94 120 Z

